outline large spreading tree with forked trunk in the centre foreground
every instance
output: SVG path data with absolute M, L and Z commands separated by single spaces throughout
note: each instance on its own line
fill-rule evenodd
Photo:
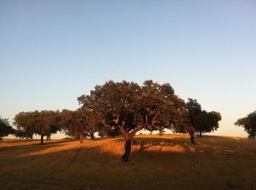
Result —
M 97 113 L 105 127 L 124 135 L 123 162 L 128 162 L 136 132 L 172 127 L 183 103 L 170 84 L 160 85 L 151 80 L 142 86 L 109 81 L 97 85 L 90 95 L 81 95 L 78 102 L 81 108 Z

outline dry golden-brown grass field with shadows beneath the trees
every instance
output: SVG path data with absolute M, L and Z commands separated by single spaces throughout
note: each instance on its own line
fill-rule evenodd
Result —
M 122 138 L 1 140 L 0 189 L 256 189 L 256 140 L 138 135 L 122 152 Z

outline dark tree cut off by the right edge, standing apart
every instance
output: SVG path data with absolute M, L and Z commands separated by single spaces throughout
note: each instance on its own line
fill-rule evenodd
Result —
M 238 119 L 235 124 L 244 127 L 248 133 L 248 138 L 252 139 L 256 136 L 256 111 L 248 114 L 246 117 Z

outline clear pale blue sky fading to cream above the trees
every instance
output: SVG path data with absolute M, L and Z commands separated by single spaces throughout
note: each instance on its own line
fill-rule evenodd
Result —
M 246 136 L 256 110 L 256 1 L 0 1 L 0 115 L 79 108 L 113 79 L 170 83 Z M 54 135 L 61 138 L 63 135 Z

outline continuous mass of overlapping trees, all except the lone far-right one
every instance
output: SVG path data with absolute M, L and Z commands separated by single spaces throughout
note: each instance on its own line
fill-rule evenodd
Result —
M 121 159 L 128 162 L 132 140 L 140 130 L 161 134 L 165 129 L 189 134 L 195 143 L 195 134 L 213 132 L 219 128 L 222 119 L 217 111 L 202 110 L 197 100 L 187 103 L 175 94 L 170 84 L 158 84 L 151 80 L 142 85 L 135 82 L 108 81 L 97 85 L 89 95 L 78 97 L 80 108 L 76 111 L 28 111 L 20 112 L 13 124 L 17 130 L 1 132 L 1 136 L 15 134 L 18 138 L 44 137 L 57 131 L 64 131 L 73 138 L 94 139 L 94 133 L 101 137 L 124 136 L 124 154 Z M 7 119 L 3 126 L 10 126 Z M 4 129 L 1 124 L 0 129 Z

